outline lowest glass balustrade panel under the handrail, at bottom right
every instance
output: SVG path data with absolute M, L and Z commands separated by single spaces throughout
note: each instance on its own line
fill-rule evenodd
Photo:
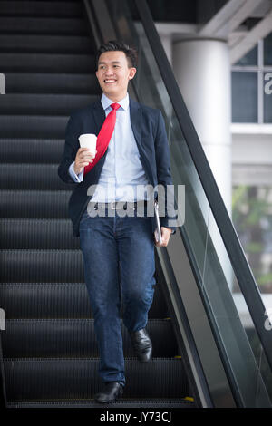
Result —
M 264 401 L 269 406 L 272 373 L 211 211 L 207 238 L 203 291 L 224 341 L 239 392 L 247 407 L 261 407 Z

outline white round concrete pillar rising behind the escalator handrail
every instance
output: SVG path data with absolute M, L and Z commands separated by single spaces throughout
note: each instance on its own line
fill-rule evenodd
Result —
M 172 65 L 230 215 L 231 89 L 228 44 L 200 38 L 175 42 Z

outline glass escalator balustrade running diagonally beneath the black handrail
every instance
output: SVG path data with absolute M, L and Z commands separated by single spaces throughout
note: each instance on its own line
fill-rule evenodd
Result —
M 105 4 L 118 37 L 135 45 L 139 52 L 134 96 L 159 108 L 164 115 L 173 183 L 175 188 L 185 186 L 185 216 L 179 200 L 176 206 L 185 218 L 179 233 L 189 253 L 234 400 L 238 406 L 269 407 L 272 331 L 269 333 L 265 328 L 265 307 L 150 12 L 143 0 L 109 0 Z M 191 328 L 194 331 L 193 321 Z M 197 330 L 195 339 L 198 339 Z M 201 344 L 205 342 L 199 342 L 200 358 Z M 207 372 L 209 380 L 213 378 Z

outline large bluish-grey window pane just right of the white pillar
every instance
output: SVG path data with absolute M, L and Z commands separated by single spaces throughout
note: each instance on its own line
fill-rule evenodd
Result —
M 231 73 L 232 122 L 257 122 L 257 73 Z

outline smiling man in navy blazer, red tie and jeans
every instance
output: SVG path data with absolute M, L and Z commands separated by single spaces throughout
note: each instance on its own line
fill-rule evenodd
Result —
M 73 111 L 58 169 L 63 181 L 76 182 L 69 215 L 74 236 L 80 237 L 100 353 L 99 373 L 104 386 L 95 395 L 97 402 L 115 401 L 125 386 L 121 297 L 123 324 L 137 358 L 141 362 L 151 360 L 152 344 L 145 327 L 156 284 L 154 244 L 167 246 L 174 232 L 166 213 L 160 218 L 160 244 L 154 238 L 155 218 L 147 215 L 151 198 L 145 189 L 149 185 L 166 188 L 172 183 L 170 154 L 161 112 L 129 98 L 128 83 L 136 73 L 136 63 L 137 53 L 127 44 L 102 44 L 96 56 L 102 98 Z M 99 158 L 106 122 L 114 115 L 112 136 Z M 86 133 L 99 135 L 98 157 L 80 148 L 78 138 Z M 127 208 L 127 215 L 119 214 L 120 205 L 122 211 Z M 143 216 L 137 214 L 140 208 Z M 103 214 L 99 214 L 101 211 Z

